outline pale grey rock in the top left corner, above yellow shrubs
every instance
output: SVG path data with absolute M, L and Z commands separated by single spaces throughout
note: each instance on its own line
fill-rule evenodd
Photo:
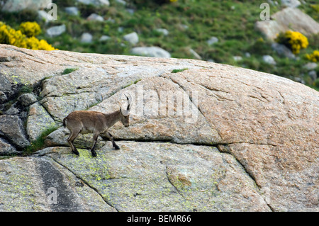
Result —
M 52 3 L 52 0 L 6 0 L 0 2 L 4 4 L 2 11 L 18 12 L 23 9 L 39 10 L 47 8 L 47 5 Z

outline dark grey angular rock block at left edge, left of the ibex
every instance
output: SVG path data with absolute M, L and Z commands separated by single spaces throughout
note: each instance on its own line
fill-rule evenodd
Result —
M 23 122 L 16 115 L 0 115 L 0 135 L 20 148 L 19 151 L 30 145 Z

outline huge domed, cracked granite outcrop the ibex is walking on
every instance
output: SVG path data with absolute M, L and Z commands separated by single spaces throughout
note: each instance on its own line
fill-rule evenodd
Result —
M 307 86 L 198 60 L 10 45 L 0 79 L 1 155 L 57 128 L 35 154 L 0 160 L 0 210 L 318 211 L 319 95 Z M 130 127 L 110 130 L 121 149 L 100 137 L 93 158 L 80 135 L 72 154 L 62 119 L 114 111 L 123 94 Z

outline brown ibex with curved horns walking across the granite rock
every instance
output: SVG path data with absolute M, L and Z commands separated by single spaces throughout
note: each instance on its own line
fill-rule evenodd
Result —
M 126 96 L 126 95 L 125 95 Z M 93 141 L 94 144 L 91 148 L 91 153 L 93 157 L 96 157 L 95 147 L 96 142 L 101 135 L 102 137 L 108 137 L 111 140 L 112 145 L 115 149 L 120 149 L 118 145 L 114 142 L 114 138 L 108 129 L 111 128 L 112 125 L 117 123 L 119 120 L 123 123 L 125 127 L 129 125 L 129 113 L 130 113 L 130 101 L 128 96 L 126 96 L 128 100 L 128 107 L 126 110 L 114 111 L 113 113 L 101 113 L 97 111 L 73 111 L 69 113 L 66 118 L 63 119 L 63 126 L 67 127 L 70 131 L 69 138 L 67 138 L 67 142 L 69 142 L 69 146 L 72 149 L 74 154 L 79 155 L 79 152 L 76 147 L 73 145 L 73 141 L 79 135 L 79 133 L 93 133 Z

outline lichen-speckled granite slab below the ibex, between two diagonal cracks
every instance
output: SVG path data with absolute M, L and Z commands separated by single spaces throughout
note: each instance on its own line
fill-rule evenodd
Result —
M 79 149 L 79 158 L 65 153 L 65 148 L 46 155 L 76 172 L 119 211 L 269 211 L 240 164 L 216 148 L 133 141 L 118 144 L 122 149 L 116 151 L 103 146 L 96 159 L 85 149 Z M 127 161 L 130 163 L 125 164 Z M 250 199 L 240 195 L 242 191 Z

